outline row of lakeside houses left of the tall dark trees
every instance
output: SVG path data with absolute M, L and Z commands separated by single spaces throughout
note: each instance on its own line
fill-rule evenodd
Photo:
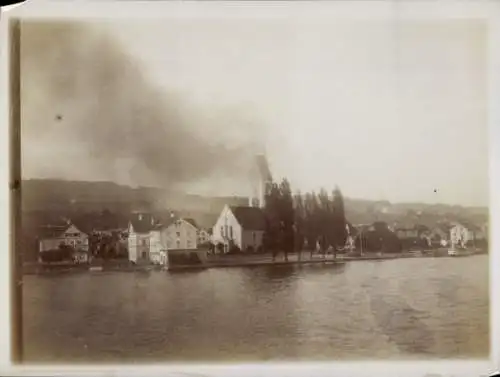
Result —
M 169 251 L 195 251 L 214 245 L 220 253 L 229 252 L 231 247 L 257 250 L 262 245 L 264 229 L 264 213 L 258 207 L 225 206 L 216 224 L 208 229 L 199 227 L 191 218 L 173 214 L 162 218 L 148 211 L 135 211 L 128 226 L 121 229 L 84 231 L 70 220 L 44 226 L 38 251 L 39 259 L 44 260 L 44 256 L 69 247 L 76 262 L 87 262 L 92 256 L 91 240 L 118 234 L 117 241 L 125 246 L 131 262 L 163 264 Z

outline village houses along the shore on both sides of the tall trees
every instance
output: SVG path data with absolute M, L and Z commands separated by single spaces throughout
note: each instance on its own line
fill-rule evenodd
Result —
M 255 200 L 253 201 L 255 203 Z M 47 226 L 45 237 L 40 239 L 39 252 L 43 256 L 61 246 L 73 250 L 76 262 L 87 262 L 91 237 L 119 234 L 118 242 L 123 245 L 126 255 L 134 263 L 165 264 L 169 252 L 212 249 L 216 253 L 228 253 L 233 248 L 243 252 L 258 251 L 262 247 L 265 231 L 265 215 L 261 206 L 226 205 L 212 228 L 200 228 L 191 218 L 171 214 L 159 218 L 147 211 L 131 214 L 128 227 L 114 230 L 94 230 L 87 234 L 77 225 Z M 438 223 L 434 226 L 414 224 L 400 226 L 375 222 L 368 225 L 348 223 L 348 248 L 411 250 L 445 247 L 465 239 L 468 244 L 480 246 L 487 243 L 488 226 L 470 223 Z

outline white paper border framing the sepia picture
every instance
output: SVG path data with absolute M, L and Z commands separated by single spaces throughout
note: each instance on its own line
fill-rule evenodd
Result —
M 494 1 L 31 1 L 9 12 L 1 14 L 1 76 L 0 117 L 2 135 L 0 150 L 9 151 L 9 56 L 8 24 L 14 18 L 37 19 L 152 19 L 164 17 L 210 18 L 210 17 L 301 17 L 350 20 L 373 19 L 484 19 L 489 25 L 489 173 L 490 173 L 490 359 L 478 361 L 386 361 L 386 362 L 331 362 L 331 363 L 280 363 L 280 364 L 148 364 L 144 366 L 16 366 L 10 357 L 10 336 L 0 337 L 0 373 L 10 376 L 147 376 L 147 375 L 198 375 L 198 376 L 304 376 L 304 375 L 405 375 L 405 376 L 488 376 L 499 370 L 500 360 L 500 297 L 496 290 L 500 278 L 496 270 L 500 267 L 500 3 Z M 161 18 L 164 18 L 161 17 Z M 4 184 L 0 186 L 0 206 L 9 208 L 8 158 L 0 159 L 0 172 Z M 0 334 L 9 334 L 10 326 L 10 243 L 9 211 L 2 211 L 0 240 L 1 297 L 7 303 L 0 310 Z M 495 321 L 496 319 L 496 321 Z M 495 323 L 496 322 L 496 323 Z

